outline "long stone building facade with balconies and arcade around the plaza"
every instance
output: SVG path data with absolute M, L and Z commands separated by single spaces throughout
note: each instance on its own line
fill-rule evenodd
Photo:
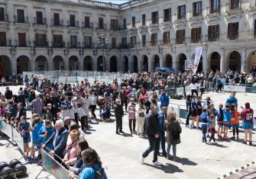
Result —
M 0 0 L 0 75 L 256 67 L 255 0 Z

